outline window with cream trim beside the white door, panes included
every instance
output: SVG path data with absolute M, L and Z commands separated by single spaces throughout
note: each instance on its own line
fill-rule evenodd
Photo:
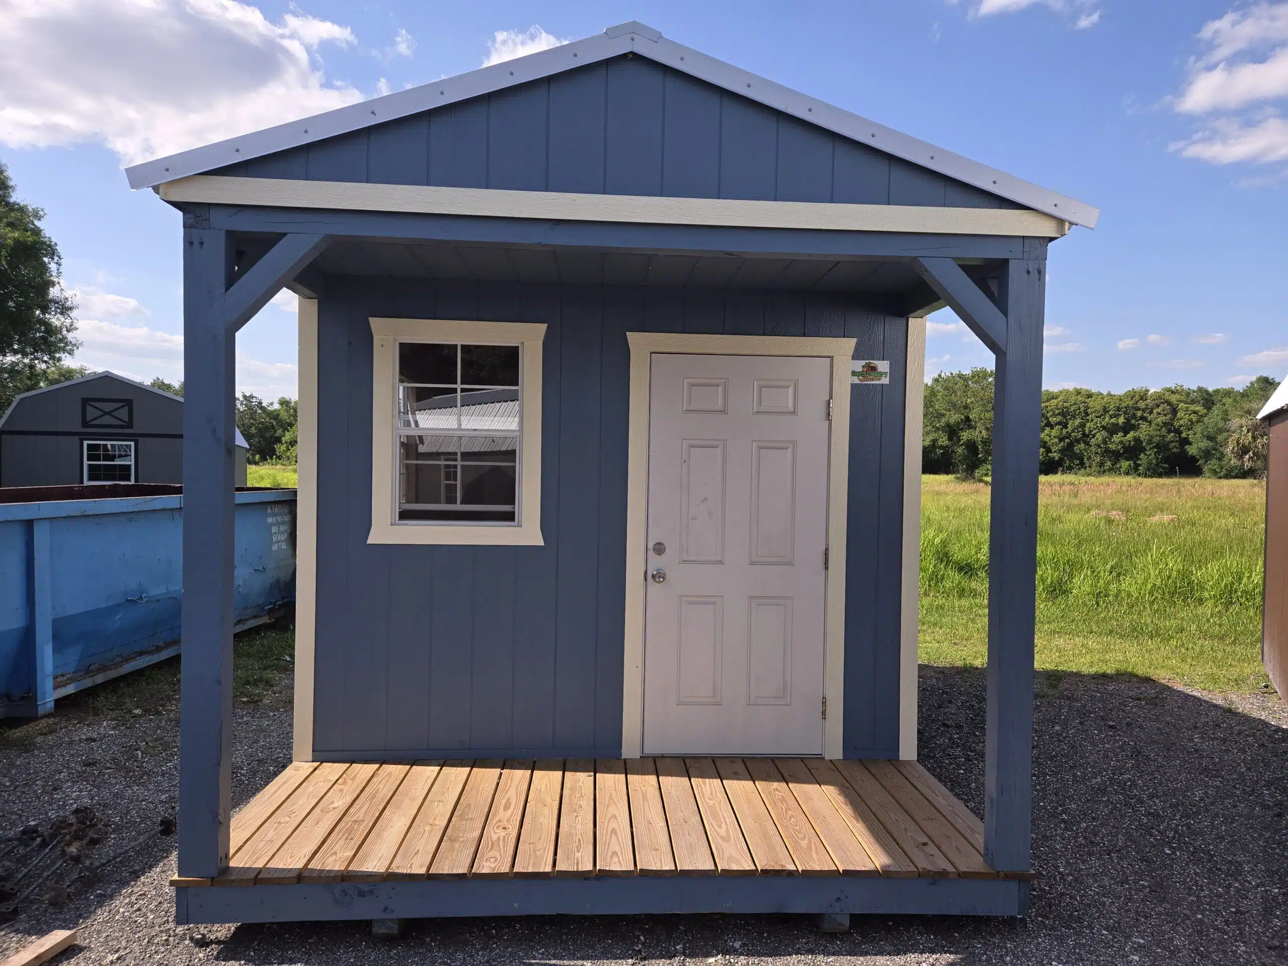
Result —
M 545 326 L 371 319 L 374 544 L 541 544 Z

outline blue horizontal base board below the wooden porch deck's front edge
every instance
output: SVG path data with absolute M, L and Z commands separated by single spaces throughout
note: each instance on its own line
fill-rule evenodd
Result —
M 1028 913 L 1029 884 L 1006 878 L 634 877 L 425 880 L 361 885 L 175 889 L 175 922 L 325 922 L 459 916 Z

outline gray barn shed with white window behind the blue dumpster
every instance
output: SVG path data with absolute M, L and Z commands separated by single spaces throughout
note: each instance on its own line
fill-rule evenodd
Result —
M 233 438 L 243 487 L 246 440 Z M 0 487 L 182 482 L 182 395 L 103 371 L 22 393 L 0 417 Z

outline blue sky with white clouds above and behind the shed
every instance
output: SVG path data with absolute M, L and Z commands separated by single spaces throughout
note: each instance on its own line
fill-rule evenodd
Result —
M 80 299 L 79 361 L 182 375 L 180 222 L 121 171 L 158 153 L 639 19 L 1103 210 L 1051 249 L 1046 383 L 1288 371 L 1288 3 L 10 0 L 0 160 Z M 988 365 L 949 312 L 927 376 Z M 292 298 L 238 385 L 295 393 Z

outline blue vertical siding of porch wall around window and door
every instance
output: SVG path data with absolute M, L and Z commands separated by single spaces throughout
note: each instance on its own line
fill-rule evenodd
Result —
M 371 316 L 544 322 L 540 547 L 368 545 Z M 848 295 L 332 277 L 319 305 L 321 757 L 621 750 L 629 331 L 853 336 L 845 751 L 898 753 L 904 319 Z

